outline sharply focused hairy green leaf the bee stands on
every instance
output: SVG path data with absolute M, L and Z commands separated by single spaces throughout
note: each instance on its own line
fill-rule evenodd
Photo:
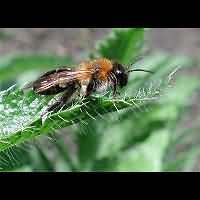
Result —
M 47 105 L 50 98 L 52 97 L 38 96 L 33 91 L 23 93 L 13 87 L 0 93 L 0 151 L 81 120 L 93 119 L 99 114 L 116 111 L 116 106 L 119 110 L 127 107 L 134 109 L 136 103 L 138 106 L 143 106 L 152 100 L 134 97 L 88 98 L 51 115 L 43 122 L 41 113 L 46 109 L 45 104 Z

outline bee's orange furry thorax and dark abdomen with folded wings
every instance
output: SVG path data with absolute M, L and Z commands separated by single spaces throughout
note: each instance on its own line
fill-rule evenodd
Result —
M 114 63 L 108 59 L 97 59 L 82 62 L 75 69 L 52 70 L 36 80 L 33 89 L 41 95 L 55 95 L 75 87 L 82 96 L 88 96 L 94 91 L 106 90 L 117 84 L 113 66 Z

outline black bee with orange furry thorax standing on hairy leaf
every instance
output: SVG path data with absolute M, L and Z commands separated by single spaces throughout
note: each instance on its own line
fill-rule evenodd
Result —
M 39 95 L 63 92 L 60 99 L 47 109 L 50 112 L 62 108 L 76 92 L 82 97 L 88 97 L 94 92 L 111 88 L 115 96 L 117 87 L 125 87 L 129 73 L 133 71 L 152 73 L 144 69 L 129 70 L 117 61 L 99 58 L 81 62 L 76 68 L 62 67 L 48 71 L 32 82 L 31 87 Z

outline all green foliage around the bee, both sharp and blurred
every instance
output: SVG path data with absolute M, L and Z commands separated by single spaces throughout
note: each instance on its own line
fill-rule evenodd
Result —
M 143 28 L 114 29 L 91 57 L 129 64 L 143 51 L 144 34 Z M 0 59 L 0 84 L 6 88 L 0 92 L 0 170 L 192 170 L 199 155 L 199 127 L 178 131 L 200 85 L 198 78 L 179 73 L 191 68 L 189 58 L 152 53 L 135 66 L 155 73 L 132 73 L 116 99 L 94 95 L 42 120 L 41 113 L 54 99 L 24 93 L 18 85 L 72 63 L 43 55 Z M 13 82 L 17 85 L 7 89 Z

